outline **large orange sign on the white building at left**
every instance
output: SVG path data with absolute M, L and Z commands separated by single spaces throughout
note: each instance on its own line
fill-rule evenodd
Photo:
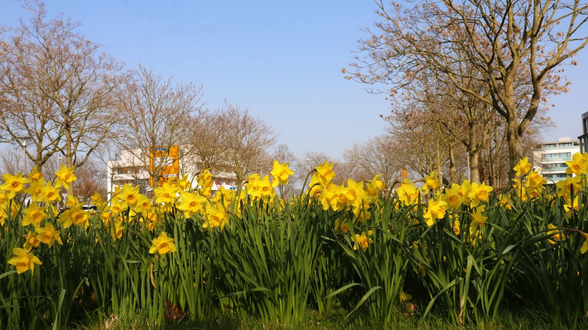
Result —
M 159 176 L 159 186 L 164 182 L 178 179 L 180 175 L 179 147 L 162 146 L 149 149 L 149 171 Z M 153 177 L 149 177 L 153 186 Z

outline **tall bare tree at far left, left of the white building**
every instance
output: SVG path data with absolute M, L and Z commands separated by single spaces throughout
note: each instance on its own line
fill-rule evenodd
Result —
M 24 6 L 31 20 L 21 19 L 0 45 L 4 142 L 23 148 L 39 168 L 55 153 L 68 167 L 81 166 L 115 121 L 113 91 L 122 65 L 77 33 L 79 23 L 47 19 L 40 2 Z

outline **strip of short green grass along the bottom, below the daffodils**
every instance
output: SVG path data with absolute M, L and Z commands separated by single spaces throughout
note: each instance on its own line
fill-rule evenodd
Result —
M 369 316 L 360 312 L 348 319 L 345 315 L 348 312 L 344 309 L 332 312 L 328 315 L 319 315 L 316 312 L 306 312 L 303 321 L 295 324 L 277 324 L 264 322 L 253 317 L 239 318 L 236 315 L 222 314 L 215 312 L 210 315 L 206 321 L 183 320 L 181 322 L 163 322 L 161 326 L 155 325 L 153 320 L 146 314 L 126 315 L 106 326 L 104 315 L 90 315 L 83 319 L 77 325 L 71 326 L 70 329 L 88 329 L 88 330 L 164 330 L 164 329 L 212 329 L 212 330 L 229 330 L 229 329 L 325 329 L 325 330 L 343 330 L 343 329 L 586 329 L 588 319 L 570 324 L 561 319 L 547 319 L 549 313 L 541 311 L 524 310 L 518 312 L 502 311 L 495 321 L 483 322 L 479 324 L 470 324 L 460 326 L 448 321 L 438 314 L 429 314 L 423 319 L 422 315 L 398 313 L 393 322 L 382 324 L 379 321 L 370 319 Z

